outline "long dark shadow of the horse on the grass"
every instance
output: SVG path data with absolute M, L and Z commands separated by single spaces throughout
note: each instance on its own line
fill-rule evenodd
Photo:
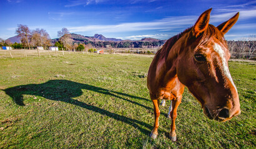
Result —
M 106 111 L 104 109 L 101 109 L 96 106 L 92 106 L 91 104 L 86 104 L 85 102 L 77 101 L 75 99 L 72 99 L 72 97 L 78 97 L 84 94 L 82 92 L 82 89 L 86 89 L 89 91 L 94 91 L 96 93 L 106 94 L 113 97 L 117 97 L 119 99 L 123 99 L 125 101 L 131 102 L 132 104 L 137 104 L 138 106 L 144 107 L 145 109 L 152 108 L 144 106 L 142 104 L 139 104 L 135 101 L 130 101 L 129 99 L 126 99 L 121 96 L 131 97 L 135 99 L 141 99 L 141 100 L 147 100 L 142 97 L 136 97 L 131 96 L 129 94 L 125 93 L 119 93 L 116 91 L 109 91 L 108 89 L 99 88 L 96 86 L 91 86 L 88 84 L 81 84 L 76 83 L 74 81 L 68 81 L 65 79 L 54 79 L 47 81 L 46 83 L 42 84 L 27 84 L 22 86 L 15 86 L 13 88 L 7 88 L 3 91 L 6 92 L 7 95 L 12 97 L 12 100 L 19 106 L 24 106 L 23 102 L 23 94 L 30 94 L 35 96 L 42 96 L 46 99 L 50 99 L 52 101 L 62 101 L 67 102 L 69 104 L 74 104 L 76 106 L 83 107 L 85 109 L 88 109 L 89 111 L 94 111 L 102 115 L 107 115 L 108 117 L 111 117 L 116 120 L 120 120 L 122 122 L 125 122 L 126 124 L 132 125 L 133 127 L 140 130 L 140 132 L 145 133 L 148 135 L 150 133 L 149 130 L 142 129 L 139 125 L 143 125 L 147 127 L 148 129 L 152 129 L 152 126 L 149 124 L 146 124 L 145 122 L 141 122 L 139 120 L 130 119 L 129 117 L 125 117 L 123 115 L 115 114 L 113 112 Z M 117 95 L 116 95 L 117 94 Z

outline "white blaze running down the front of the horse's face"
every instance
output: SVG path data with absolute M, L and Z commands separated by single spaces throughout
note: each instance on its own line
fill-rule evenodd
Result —
M 214 44 L 214 50 L 215 50 L 215 52 L 219 53 L 219 56 L 220 56 L 221 61 L 222 61 L 222 67 L 223 67 L 222 69 L 224 71 L 225 76 L 227 76 L 227 78 L 229 79 L 229 81 L 232 83 L 232 85 L 234 86 L 235 90 L 237 91 L 237 88 L 235 87 L 233 79 L 231 78 L 231 75 L 230 75 L 230 72 L 229 72 L 229 67 L 227 66 L 227 61 L 225 59 L 225 52 L 224 52 L 224 50 L 217 43 Z

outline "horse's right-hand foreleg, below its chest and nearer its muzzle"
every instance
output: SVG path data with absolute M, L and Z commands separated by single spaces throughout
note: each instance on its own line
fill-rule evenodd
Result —
M 172 112 L 170 112 L 170 119 L 172 119 L 172 124 L 170 125 L 170 138 L 174 142 L 177 140 L 176 133 L 175 133 L 175 119 L 177 117 L 177 109 L 180 102 L 181 102 L 181 97 L 177 97 L 177 99 L 174 100 L 174 102 L 172 102 L 173 110 Z

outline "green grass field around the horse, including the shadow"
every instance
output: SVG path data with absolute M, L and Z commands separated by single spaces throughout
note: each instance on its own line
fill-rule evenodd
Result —
M 207 119 L 185 89 L 168 138 L 168 106 L 159 136 L 146 86 L 154 55 L 44 55 L 0 58 L 0 148 L 255 148 L 256 62 L 230 61 L 242 113 Z M 169 102 L 167 102 L 169 104 Z

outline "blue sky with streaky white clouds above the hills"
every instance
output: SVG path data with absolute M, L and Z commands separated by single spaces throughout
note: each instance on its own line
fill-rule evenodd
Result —
M 51 38 L 66 27 L 71 33 L 139 40 L 168 39 L 195 24 L 213 8 L 215 26 L 240 12 L 225 35 L 244 40 L 256 35 L 256 1 L 246 0 L 0 0 L 0 38 L 12 37 L 17 24 L 45 29 Z

